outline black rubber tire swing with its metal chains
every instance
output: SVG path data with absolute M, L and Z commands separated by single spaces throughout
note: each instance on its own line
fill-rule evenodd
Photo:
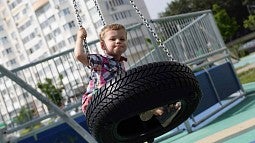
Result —
M 105 25 L 99 6 L 93 1 Z M 120 73 L 92 97 L 86 121 L 90 133 L 102 143 L 136 143 L 160 136 L 187 120 L 201 99 L 192 70 L 174 61 L 134 2 L 130 3 L 170 61 L 149 63 Z M 74 8 L 81 26 L 75 0 Z M 154 117 L 146 122 L 140 120 L 140 113 L 176 102 L 181 102 L 181 109 L 168 126 L 162 127 Z

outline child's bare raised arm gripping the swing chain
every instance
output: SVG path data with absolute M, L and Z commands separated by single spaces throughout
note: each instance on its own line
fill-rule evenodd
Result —
M 87 32 L 82 27 L 77 31 L 76 44 L 74 48 L 74 57 L 86 66 L 89 66 L 88 53 L 84 52 L 83 40 L 86 39 Z

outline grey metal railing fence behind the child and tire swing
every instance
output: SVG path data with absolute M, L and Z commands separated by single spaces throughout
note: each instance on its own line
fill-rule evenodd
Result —
M 150 24 L 174 59 L 188 64 L 194 70 L 229 60 L 228 51 L 211 11 L 151 20 Z M 127 69 L 168 60 L 166 53 L 158 48 L 157 42 L 143 24 L 133 25 L 127 28 L 127 31 Z M 91 53 L 100 51 L 98 40 L 89 42 L 88 47 Z M 71 116 L 82 114 L 81 96 L 88 83 L 90 71 L 75 60 L 73 49 L 11 71 L 39 92 L 41 90 L 38 83 L 45 83 L 46 78 L 51 79 L 56 88 L 62 88 L 63 85 L 62 96 L 65 100 L 60 108 Z M 59 75 L 63 76 L 61 80 L 58 79 Z M 17 85 L 2 72 L 0 85 L 0 123 L 2 122 L 6 129 L 7 137 L 28 136 L 33 134 L 29 131 L 43 130 L 61 120 L 51 109 L 27 92 L 25 87 Z

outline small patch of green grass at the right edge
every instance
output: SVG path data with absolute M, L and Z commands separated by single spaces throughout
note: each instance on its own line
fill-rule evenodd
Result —
M 245 72 L 237 74 L 237 76 L 242 84 L 255 82 L 255 68 L 251 68 Z

